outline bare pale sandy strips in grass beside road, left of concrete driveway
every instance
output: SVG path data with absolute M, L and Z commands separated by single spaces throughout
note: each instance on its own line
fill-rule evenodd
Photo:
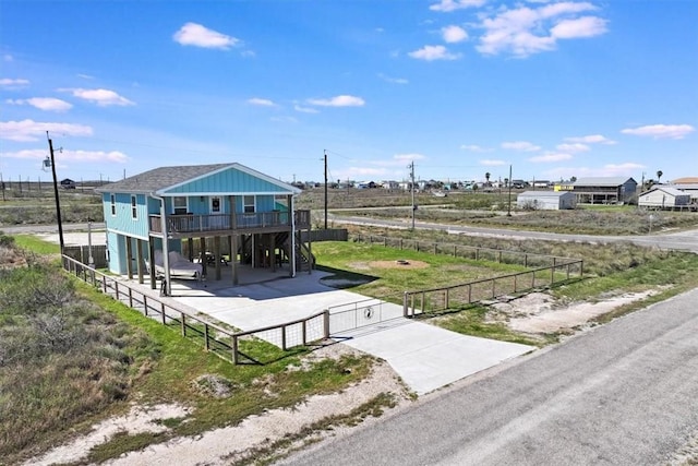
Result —
M 354 351 L 345 345 L 332 345 L 313 351 L 312 358 L 339 357 Z M 332 416 L 346 415 L 380 394 L 393 394 L 397 409 L 409 404 L 409 393 L 393 369 L 376 361 L 371 375 L 340 393 L 312 396 L 291 409 L 275 409 L 252 416 L 238 426 L 215 429 L 196 437 L 174 438 L 110 461 L 109 465 L 229 465 L 264 449 L 286 435 L 301 432 L 314 422 Z M 152 407 L 133 406 L 125 416 L 107 419 L 93 427 L 89 434 L 74 439 L 25 465 L 53 465 L 85 459 L 89 450 L 108 441 L 117 433 L 160 432 L 167 430 L 163 420 L 185 418 L 190 409 L 180 405 Z M 315 438 L 327 437 L 342 429 L 318 432 Z

